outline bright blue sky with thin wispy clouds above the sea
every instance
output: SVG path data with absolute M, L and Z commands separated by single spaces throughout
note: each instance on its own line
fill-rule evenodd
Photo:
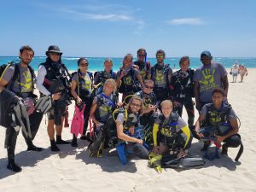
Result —
M 9 0 L 0 10 L 0 55 L 56 44 L 64 56 L 256 56 L 253 0 Z

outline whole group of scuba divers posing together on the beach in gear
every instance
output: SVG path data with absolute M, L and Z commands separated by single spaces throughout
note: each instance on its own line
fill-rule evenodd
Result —
M 201 53 L 203 65 L 195 71 L 189 68 L 188 56 L 180 59 L 180 69 L 173 72 L 164 63 L 164 50 L 156 52 L 157 63 L 151 66 L 146 50 L 138 49 L 137 61 L 131 54 L 125 55 L 117 73 L 113 72 L 111 59 L 104 61 L 103 71 L 93 74 L 88 71 L 88 60 L 80 58 L 78 70 L 70 74 L 61 61 L 61 50 L 51 45 L 37 77 L 29 65 L 33 55 L 30 46 L 22 46 L 18 63 L 1 66 L 0 125 L 6 128 L 7 168 L 13 172 L 21 171 L 15 164 L 20 129 L 28 151 L 43 150 L 32 140 L 44 113 L 48 116 L 51 151 L 60 151 L 59 144 L 77 147 L 80 134 L 80 139 L 90 141 L 90 156 L 98 157 L 103 149 L 115 148 L 110 151 L 116 151 L 124 165 L 132 156 L 139 156 L 157 172 L 162 167 L 203 166 L 205 160 L 189 153 L 193 137 L 204 142 L 202 150 L 209 160 L 218 157 L 219 148 L 227 154 L 228 148 L 241 146 L 236 161 L 241 156 L 236 113 L 227 102 L 227 72 L 212 61 L 209 51 Z M 39 97 L 33 93 L 35 85 Z M 72 99 L 75 114 L 70 143 L 62 140 L 61 131 Z M 200 113 L 195 125 L 194 106 Z M 182 119 L 183 107 L 188 124 Z M 209 153 L 212 143 L 215 154 Z

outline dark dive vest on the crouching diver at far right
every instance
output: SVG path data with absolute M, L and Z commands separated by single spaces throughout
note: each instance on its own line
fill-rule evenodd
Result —
M 206 120 L 203 123 L 203 126 L 211 126 L 211 125 L 222 125 L 224 123 L 229 123 L 229 114 L 232 109 L 229 103 L 223 102 L 223 106 L 220 110 L 214 108 L 213 103 L 207 104 L 207 115 Z

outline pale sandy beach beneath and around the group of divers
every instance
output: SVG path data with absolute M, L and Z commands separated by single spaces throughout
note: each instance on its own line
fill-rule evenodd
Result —
M 238 148 L 231 148 L 230 158 L 207 160 L 199 170 L 166 169 L 158 174 L 148 168 L 147 160 L 131 160 L 123 166 L 117 156 L 90 158 L 88 143 L 81 140 L 79 148 L 60 145 L 61 152 L 52 153 L 44 118 L 34 140 L 34 144 L 45 148 L 43 152 L 27 152 L 24 138 L 21 134 L 18 137 L 15 160 L 22 166 L 20 173 L 6 169 L 5 129 L 0 128 L 0 191 L 256 191 L 256 69 L 249 69 L 248 73 L 244 83 L 230 83 L 229 91 L 229 102 L 241 119 L 245 146 L 241 163 L 234 161 Z M 71 124 L 73 105 L 69 113 Z M 183 116 L 187 119 L 185 113 Z M 71 140 L 70 128 L 63 128 L 62 137 Z M 194 142 L 191 152 L 203 154 L 199 150 L 202 143 Z

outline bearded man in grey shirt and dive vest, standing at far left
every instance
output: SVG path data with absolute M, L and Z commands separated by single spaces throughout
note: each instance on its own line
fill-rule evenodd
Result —
M 22 131 L 27 150 L 41 151 L 43 148 L 38 148 L 32 143 L 32 139 L 36 136 L 43 118 L 42 113 L 34 110 L 34 102 L 37 97 L 33 94 L 35 74 L 32 67 L 29 66 L 33 56 L 34 51 L 30 46 L 22 46 L 20 48 L 20 62 L 18 64 L 11 64 L 5 68 L 0 79 L 0 86 L 2 86 L 2 89 L 6 87 L 8 90 L 14 92 L 16 97 L 20 97 L 24 101 L 32 128 L 32 138 L 26 137 L 24 131 Z M 6 110 L 9 109 L 6 108 Z M 15 145 L 18 134 L 19 131 L 15 131 L 13 125 L 7 127 L 4 147 L 7 148 L 8 153 L 9 163 L 7 168 L 13 172 L 21 171 L 20 166 L 15 164 Z

